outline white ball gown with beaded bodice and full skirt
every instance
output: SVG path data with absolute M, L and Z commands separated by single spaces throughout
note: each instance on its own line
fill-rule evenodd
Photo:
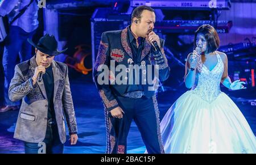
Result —
M 256 153 L 256 138 L 237 105 L 220 90 L 224 64 L 203 65 L 192 90 L 160 123 L 165 153 Z

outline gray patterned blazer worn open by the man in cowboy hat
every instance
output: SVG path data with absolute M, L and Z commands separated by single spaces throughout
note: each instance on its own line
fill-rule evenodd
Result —
M 42 142 L 46 136 L 48 101 L 43 81 L 32 84 L 36 64 L 35 56 L 15 66 L 11 79 L 9 98 L 12 101 L 22 99 L 14 138 L 26 142 Z M 77 133 L 77 124 L 71 90 L 69 87 L 67 65 L 52 61 L 54 79 L 53 103 L 59 130 L 60 141 L 65 143 L 66 133 L 64 116 L 69 134 Z

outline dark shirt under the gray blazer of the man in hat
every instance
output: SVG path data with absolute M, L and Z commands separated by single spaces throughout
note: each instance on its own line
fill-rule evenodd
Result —
M 46 73 L 43 74 L 44 87 L 46 88 L 46 95 L 48 99 L 48 119 L 55 119 L 55 112 L 53 107 L 53 92 L 54 92 L 54 79 L 52 72 L 52 65 L 46 68 Z

